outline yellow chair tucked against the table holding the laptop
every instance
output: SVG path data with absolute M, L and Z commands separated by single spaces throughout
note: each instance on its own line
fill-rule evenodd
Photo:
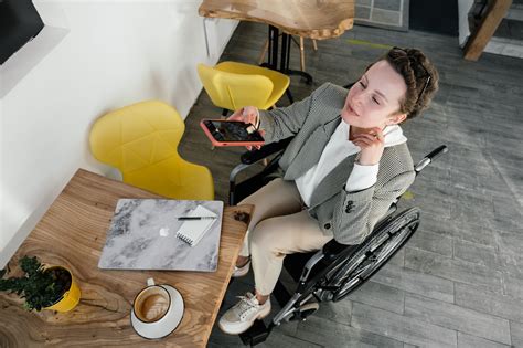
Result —
M 141 102 L 98 118 L 90 130 L 90 150 L 99 161 L 118 168 L 127 183 L 168 198 L 213 200 L 209 169 L 178 154 L 184 130 L 170 105 Z

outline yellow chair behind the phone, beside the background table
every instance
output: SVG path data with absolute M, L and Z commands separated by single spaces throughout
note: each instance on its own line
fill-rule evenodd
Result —
M 250 64 L 222 62 L 214 67 L 198 65 L 198 74 L 214 105 L 226 110 L 244 106 L 268 109 L 284 95 L 289 76 Z

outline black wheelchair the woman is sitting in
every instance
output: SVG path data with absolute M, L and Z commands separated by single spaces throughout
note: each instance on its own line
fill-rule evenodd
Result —
M 231 205 L 237 204 L 278 177 L 278 160 L 291 139 L 269 144 L 241 156 L 241 164 L 230 175 Z M 416 177 L 436 157 L 447 151 L 447 146 L 441 145 L 425 156 L 414 168 Z M 262 172 L 236 182 L 242 171 L 268 157 L 271 159 Z M 263 320 L 256 320 L 247 331 L 239 334 L 244 345 L 255 346 L 265 341 L 274 327 L 291 320 L 306 320 L 319 309 L 320 303 L 339 302 L 369 281 L 405 245 L 419 225 L 419 208 L 397 212 L 399 199 L 401 197 L 396 198 L 385 217 L 361 244 L 344 245 L 332 239 L 317 252 L 286 255 L 284 267 L 297 283 L 296 291 L 289 294 L 281 281 L 278 281 L 273 295 L 281 309 L 268 326 Z

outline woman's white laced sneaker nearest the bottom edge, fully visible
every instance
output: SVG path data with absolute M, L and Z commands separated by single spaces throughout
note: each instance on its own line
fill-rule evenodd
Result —
M 242 334 L 253 326 L 254 320 L 263 319 L 270 313 L 270 298 L 263 305 L 258 304 L 256 296 L 252 293 L 238 298 L 239 302 L 220 318 L 218 327 L 225 334 Z

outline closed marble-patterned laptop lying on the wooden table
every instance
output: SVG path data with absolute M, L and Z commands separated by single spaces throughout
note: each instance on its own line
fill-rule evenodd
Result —
M 200 242 L 177 238 L 183 221 L 203 205 L 217 215 Z M 98 262 L 104 270 L 216 271 L 222 230 L 222 201 L 120 199 Z

